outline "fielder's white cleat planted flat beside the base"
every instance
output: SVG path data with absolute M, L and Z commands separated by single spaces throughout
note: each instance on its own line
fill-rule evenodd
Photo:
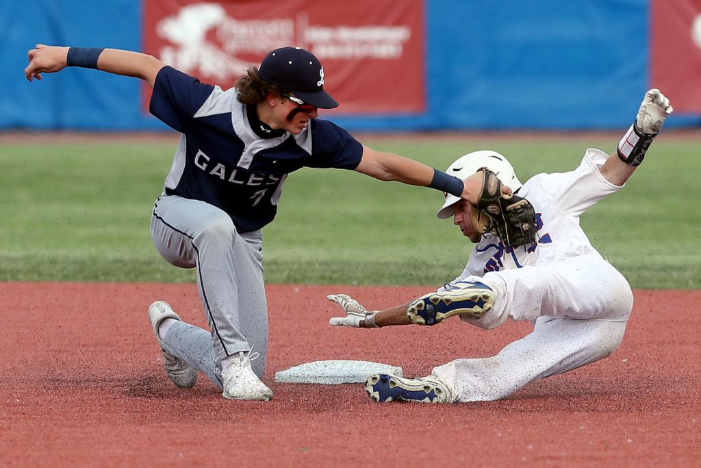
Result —
M 222 380 L 224 392 L 222 396 L 229 400 L 264 400 L 273 398 L 273 391 L 268 388 L 251 368 L 251 361 L 260 356 L 259 353 L 240 352 L 238 356 L 222 362 Z

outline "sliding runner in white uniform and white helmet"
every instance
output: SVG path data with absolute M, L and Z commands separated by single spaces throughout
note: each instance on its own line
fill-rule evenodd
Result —
M 438 218 L 452 216 L 477 243 L 463 273 L 435 293 L 380 312 L 369 312 L 348 295 L 329 295 L 346 312 L 330 323 L 358 328 L 433 325 L 460 316 L 479 328 L 494 328 L 511 318 L 533 322 L 533 332 L 496 356 L 456 359 L 427 377 L 373 375 L 365 382 L 369 396 L 381 402 L 497 400 L 533 380 L 611 354 L 623 338 L 633 293 L 622 274 L 592 247 L 579 218 L 625 185 L 670 113 L 669 100 L 651 89 L 613 154 L 587 149 L 573 171 L 538 174 L 524 184 L 509 161 L 494 151 L 472 152 L 452 163 L 449 174 L 464 178 L 487 168 L 528 200 L 536 212 L 536 241 L 506 246 L 503 239 L 478 229 L 482 214 L 470 201 L 448 194 Z

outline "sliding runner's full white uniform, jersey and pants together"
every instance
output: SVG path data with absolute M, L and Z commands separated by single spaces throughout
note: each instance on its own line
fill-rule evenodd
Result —
M 431 374 L 451 389 L 454 401 L 502 399 L 533 380 L 603 359 L 620 345 L 632 290 L 579 224 L 587 208 L 621 188 L 601 175 L 607 159 L 599 149 L 587 149 L 574 171 L 538 174 L 519 189 L 536 209 L 538 243 L 508 248 L 486 235 L 475 246 L 453 283 L 481 281 L 492 290 L 494 307 L 461 320 L 484 329 L 507 319 L 531 321 L 533 332 L 496 356 L 434 368 Z

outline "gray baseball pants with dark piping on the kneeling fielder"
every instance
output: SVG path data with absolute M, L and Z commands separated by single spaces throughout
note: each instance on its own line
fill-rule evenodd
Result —
M 210 333 L 187 323 L 173 326 L 163 337 L 165 350 L 221 387 L 222 359 L 253 347 L 260 356 L 252 368 L 262 377 L 268 349 L 262 231 L 237 232 L 223 210 L 171 195 L 156 200 L 151 239 L 171 265 L 197 268 L 210 326 Z

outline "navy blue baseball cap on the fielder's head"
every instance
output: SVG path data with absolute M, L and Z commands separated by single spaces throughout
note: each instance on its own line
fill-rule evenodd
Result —
M 276 48 L 258 67 L 258 76 L 320 109 L 339 103 L 324 91 L 324 67 L 311 52 L 301 47 Z

